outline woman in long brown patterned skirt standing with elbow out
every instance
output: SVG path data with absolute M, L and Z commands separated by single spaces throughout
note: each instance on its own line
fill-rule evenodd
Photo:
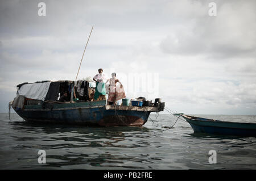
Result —
M 123 90 L 122 83 L 117 78 L 115 78 L 117 74 L 112 73 L 111 75 L 112 78 L 106 81 L 106 83 L 110 82 L 108 104 L 110 102 L 115 104 L 117 100 L 125 98 L 125 90 Z M 119 82 L 120 85 L 117 86 L 117 82 Z

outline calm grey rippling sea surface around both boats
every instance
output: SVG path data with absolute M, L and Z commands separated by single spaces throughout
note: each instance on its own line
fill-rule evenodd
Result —
M 151 119 L 155 120 L 151 113 Z M 256 116 L 197 115 L 256 123 Z M 143 127 L 34 125 L 0 113 L 0 169 L 256 169 L 256 138 L 193 133 L 175 116 L 159 115 Z M 46 164 L 38 151 L 46 151 Z M 209 150 L 217 163 L 210 164 Z

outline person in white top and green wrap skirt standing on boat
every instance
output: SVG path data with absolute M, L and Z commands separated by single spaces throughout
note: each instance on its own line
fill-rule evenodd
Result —
M 96 82 L 96 92 L 94 94 L 94 100 L 106 100 L 106 75 L 103 73 L 103 69 L 98 69 L 98 74 L 93 77 L 93 81 Z

